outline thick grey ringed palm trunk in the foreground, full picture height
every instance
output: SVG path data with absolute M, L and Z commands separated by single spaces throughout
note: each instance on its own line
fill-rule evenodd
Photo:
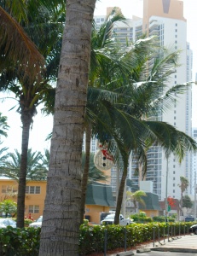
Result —
M 78 255 L 81 157 L 96 0 L 67 0 L 40 256 Z

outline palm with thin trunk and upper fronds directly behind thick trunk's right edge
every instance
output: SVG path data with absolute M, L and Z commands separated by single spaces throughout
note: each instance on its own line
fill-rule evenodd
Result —
M 99 30 L 97 30 L 95 22 L 93 22 L 92 28 L 92 37 L 91 37 L 91 55 L 90 55 L 90 74 L 89 74 L 89 87 L 97 87 L 101 86 L 101 83 L 105 81 L 105 83 L 110 81 L 111 75 L 109 72 L 105 72 L 105 69 L 113 65 L 111 69 L 112 74 L 115 72 L 115 67 L 121 69 L 123 72 L 121 73 L 122 77 L 125 77 L 125 66 L 124 63 L 119 61 L 119 56 L 114 57 L 115 53 L 119 48 L 119 44 L 115 42 L 113 37 L 113 26 L 117 21 L 125 21 L 124 15 L 117 9 L 113 9 L 112 13 L 108 15 L 107 20 L 102 24 Z M 110 52 L 113 49 L 113 54 Z M 118 70 L 116 68 L 116 70 Z M 99 80 L 101 79 L 101 82 Z M 89 102 L 88 94 L 88 102 Z M 88 104 L 88 103 L 87 103 Z M 86 106 L 87 107 L 87 106 Z M 87 109 L 87 108 L 86 108 Z M 88 115 L 85 115 L 85 164 L 84 171 L 82 177 L 82 195 L 81 195 L 81 210 L 80 210 L 80 223 L 84 222 L 84 204 L 85 204 L 85 196 L 86 189 L 88 183 L 89 175 L 89 164 L 90 164 L 90 141 L 92 138 L 92 124 L 88 119 Z

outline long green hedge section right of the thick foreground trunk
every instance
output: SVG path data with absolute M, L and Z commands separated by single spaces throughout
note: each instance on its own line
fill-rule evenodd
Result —
M 161 238 L 163 234 L 167 236 L 168 232 L 170 236 L 186 234 L 191 224 L 194 223 L 166 224 L 165 222 L 152 222 L 148 224 L 130 224 L 125 227 L 120 225 L 97 225 L 90 227 L 82 224 L 79 236 L 79 255 L 103 252 L 105 236 L 107 236 L 107 250 L 113 250 L 125 247 L 125 231 L 127 247 L 134 247 L 143 241 L 151 241 L 153 237 L 157 240 L 159 237 Z

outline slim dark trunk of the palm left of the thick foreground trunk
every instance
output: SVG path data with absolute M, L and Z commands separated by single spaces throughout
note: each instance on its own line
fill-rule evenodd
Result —
M 30 111 L 21 113 L 22 121 L 22 143 L 21 143 L 21 162 L 19 173 L 19 186 L 17 197 L 17 227 L 24 227 L 24 212 L 26 198 L 26 167 L 27 167 L 27 150 L 29 144 L 29 131 L 32 123 L 32 114 Z

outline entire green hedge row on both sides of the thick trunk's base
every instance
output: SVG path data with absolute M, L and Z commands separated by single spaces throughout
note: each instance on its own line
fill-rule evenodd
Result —
M 143 241 L 151 241 L 165 236 L 178 236 L 188 233 L 188 227 L 194 223 L 149 223 L 130 224 L 126 227 L 119 225 L 80 227 L 79 255 L 93 252 L 101 253 L 104 250 L 104 241 L 107 237 L 107 250 L 119 247 L 134 247 Z M 154 230 L 154 234 L 153 234 Z M 40 228 L 0 229 L 1 256 L 38 256 Z

